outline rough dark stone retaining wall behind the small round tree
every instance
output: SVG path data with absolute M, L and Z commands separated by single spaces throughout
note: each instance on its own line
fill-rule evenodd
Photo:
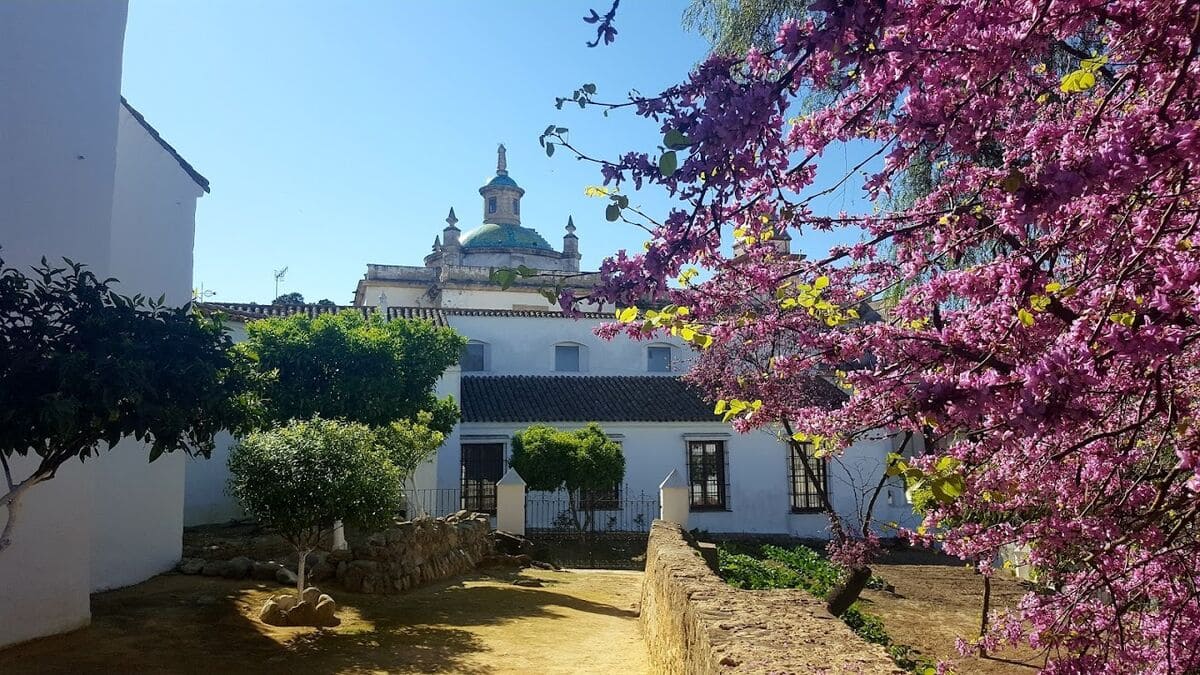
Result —
M 337 583 L 359 593 L 401 593 L 466 574 L 492 552 L 488 516 L 458 512 L 444 519 L 397 522 L 326 558 Z

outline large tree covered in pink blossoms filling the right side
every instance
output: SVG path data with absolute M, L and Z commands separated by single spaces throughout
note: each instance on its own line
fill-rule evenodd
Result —
M 560 300 L 670 303 L 607 331 L 694 342 L 692 378 L 739 429 L 834 455 L 881 428 L 920 441 L 890 462 L 929 496 L 907 536 L 984 573 L 1025 546 L 1038 573 L 982 646 L 1027 643 L 1048 673 L 1196 671 L 1198 52 L 1195 0 L 817 0 L 774 49 L 710 56 L 659 96 L 584 85 L 570 101 L 664 142 L 607 161 L 546 130 L 548 153 L 599 165 L 610 220 L 649 232 Z M 818 184 L 822 153 L 856 141 L 869 156 Z M 814 209 L 859 185 L 886 203 L 914 162 L 934 180 L 908 207 Z M 654 217 L 630 185 L 678 205 Z M 858 243 L 779 246 L 812 231 Z M 882 321 L 859 316 L 883 298 Z M 817 405 L 814 374 L 848 400 Z M 872 528 L 834 533 L 865 567 Z

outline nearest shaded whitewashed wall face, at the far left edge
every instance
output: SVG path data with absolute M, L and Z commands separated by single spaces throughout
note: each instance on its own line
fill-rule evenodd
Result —
M 0 2 L 0 246 L 8 264 L 70 256 L 110 274 L 126 2 Z M 101 459 L 103 461 L 104 458 Z M 94 467 L 24 500 L 0 552 L 0 646 L 90 619 Z M 32 470 L 18 460 L 18 474 Z

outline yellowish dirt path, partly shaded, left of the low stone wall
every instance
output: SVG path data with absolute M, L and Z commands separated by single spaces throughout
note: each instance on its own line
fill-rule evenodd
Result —
M 176 574 L 92 597 L 89 628 L 0 651 L 0 673 L 641 674 L 641 573 L 476 575 L 403 596 L 337 593 L 342 625 L 259 623 L 277 586 Z

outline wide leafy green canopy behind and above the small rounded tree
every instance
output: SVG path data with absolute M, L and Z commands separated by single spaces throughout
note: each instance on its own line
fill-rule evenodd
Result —
M 319 414 L 386 426 L 426 411 L 432 429 L 448 434 L 458 406 L 450 396 L 438 399 L 434 386 L 464 344 L 430 322 L 348 310 L 251 322 L 235 348 L 274 376 L 265 407 L 276 423 Z

